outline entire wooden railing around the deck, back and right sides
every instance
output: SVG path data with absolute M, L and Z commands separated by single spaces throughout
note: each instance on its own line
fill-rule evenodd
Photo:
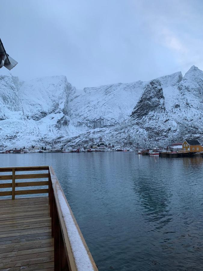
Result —
M 47 171 L 48 173 L 16 174 L 20 171 L 42 170 Z M 52 237 L 54 237 L 54 270 L 98 270 L 53 168 L 49 166 L 7 167 L 0 168 L 0 173 L 2 172 L 12 172 L 12 175 L 0 175 L 0 181 L 12 180 L 12 182 L 0 182 L 0 188 L 11 188 L 10 191 L 0 191 L 0 200 L 1 197 L 4 196 L 12 196 L 12 199 L 14 200 L 15 195 L 48 193 L 51 234 Z M 16 180 L 19 179 L 36 178 L 46 178 L 48 180 L 16 182 Z M 44 185 L 47 185 L 48 188 L 41 188 L 41 186 Z M 38 186 L 38 188 L 15 190 L 16 187 L 32 186 Z

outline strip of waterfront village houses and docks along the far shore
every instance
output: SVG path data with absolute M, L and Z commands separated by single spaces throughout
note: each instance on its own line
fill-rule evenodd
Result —
M 107 145 L 105 143 L 98 143 L 96 145 L 85 145 L 78 148 L 54 149 L 46 148 L 46 146 L 29 146 L 14 149 L 2 149 L 2 154 L 19 154 L 19 153 L 48 153 L 48 152 L 62 152 L 62 153 L 80 153 L 80 152 L 101 152 L 101 151 L 136 151 L 140 155 L 162 156 L 162 157 L 182 157 L 192 156 L 194 154 L 203 155 L 203 145 L 196 139 L 185 139 L 183 142 L 172 143 L 164 148 L 137 148 L 134 145 L 121 147 Z

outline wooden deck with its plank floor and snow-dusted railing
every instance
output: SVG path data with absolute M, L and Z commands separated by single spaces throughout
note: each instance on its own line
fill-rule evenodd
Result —
M 0 271 L 98 270 L 52 167 L 0 174 Z

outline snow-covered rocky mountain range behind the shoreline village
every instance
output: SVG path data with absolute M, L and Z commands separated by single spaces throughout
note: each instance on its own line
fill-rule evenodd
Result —
M 77 90 L 65 76 L 0 76 L 0 148 L 202 141 L 203 72 Z

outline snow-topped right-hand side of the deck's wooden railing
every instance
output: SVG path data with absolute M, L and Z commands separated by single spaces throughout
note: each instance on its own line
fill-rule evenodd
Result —
M 70 271 L 98 271 L 52 167 L 49 173 L 54 269 L 66 270 L 68 265 Z

